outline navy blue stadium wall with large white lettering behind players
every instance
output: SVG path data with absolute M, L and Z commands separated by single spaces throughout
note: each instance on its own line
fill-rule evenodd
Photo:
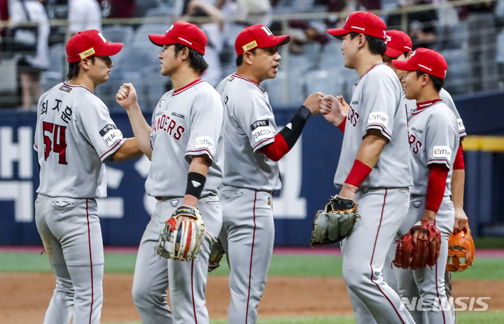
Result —
M 465 145 L 465 210 L 475 236 L 504 235 L 501 199 L 504 180 L 504 94 L 455 98 L 470 138 Z M 293 109 L 276 109 L 278 125 L 285 125 Z M 127 115 L 113 110 L 112 118 L 125 136 L 132 136 Z M 150 116 L 146 115 L 150 120 Z M 36 113 L 0 110 L 0 245 L 38 245 L 34 199 L 38 164 L 33 150 Z M 477 137 L 475 135 L 478 135 Z M 492 136 L 492 137 L 487 137 Z M 489 144 L 491 139 L 491 145 Z M 330 195 L 342 133 L 321 116 L 306 128 L 280 167 L 283 189 L 275 193 L 277 246 L 308 246 L 314 213 Z M 144 190 L 149 161 L 139 158 L 107 166 L 109 197 L 99 201 L 104 244 L 137 246 L 154 209 Z

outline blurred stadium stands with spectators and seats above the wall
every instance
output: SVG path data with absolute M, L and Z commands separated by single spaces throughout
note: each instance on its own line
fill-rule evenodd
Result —
M 348 98 L 358 76 L 344 68 L 341 41 L 326 29 L 341 27 L 355 10 L 406 31 L 414 48 L 441 52 L 453 96 L 504 91 L 504 0 L 0 0 L 0 108 L 34 110 L 41 93 L 66 79 L 69 37 L 99 29 L 125 46 L 96 94 L 120 109 L 116 91 L 132 82 L 143 110 L 152 111 L 172 84 L 160 75 L 160 48 L 147 35 L 164 34 L 176 20 L 207 34 L 210 67 L 202 78 L 214 86 L 235 71 L 239 31 L 260 23 L 291 36 L 276 78 L 262 84 L 274 108 L 297 107 L 316 91 Z

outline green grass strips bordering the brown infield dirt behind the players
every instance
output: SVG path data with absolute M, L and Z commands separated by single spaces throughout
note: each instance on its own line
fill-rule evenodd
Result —
M 482 245 L 495 246 L 495 240 Z M 105 272 L 132 274 L 137 255 L 135 253 L 105 253 Z M 51 272 L 47 256 L 40 253 L 0 252 L 0 272 Z M 341 277 L 342 258 L 328 255 L 273 255 L 269 267 L 270 276 L 337 276 Z M 478 258 L 465 272 L 453 274 L 455 280 L 500 280 L 504 281 L 504 260 Z M 211 275 L 228 275 L 225 257 L 221 267 Z M 458 324 L 502 323 L 504 311 L 465 311 L 457 313 Z M 316 316 L 302 318 L 259 318 L 258 324 L 350 324 L 353 316 Z M 140 322 L 109 324 L 141 324 Z M 211 324 L 227 324 L 226 320 L 213 320 Z

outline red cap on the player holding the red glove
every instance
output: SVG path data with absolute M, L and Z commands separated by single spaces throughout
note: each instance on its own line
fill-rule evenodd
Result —
M 392 60 L 393 66 L 402 71 L 420 70 L 437 78 L 446 77 L 448 64 L 444 57 L 435 50 L 428 48 L 416 48 L 407 61 Z

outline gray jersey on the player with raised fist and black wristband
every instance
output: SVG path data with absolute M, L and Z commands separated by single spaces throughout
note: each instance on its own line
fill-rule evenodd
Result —
M 165 93 L 152 117 L 149 144 L 153 154 L 146 180 L 148 195 L 183 197 L 190 160 L 197 155 L 207 155 L 214 162 L 202 197 L 217 195 L 222 171 L 216 147 L 222 122 L 222 99 L 209 83 L 196 80 Z

